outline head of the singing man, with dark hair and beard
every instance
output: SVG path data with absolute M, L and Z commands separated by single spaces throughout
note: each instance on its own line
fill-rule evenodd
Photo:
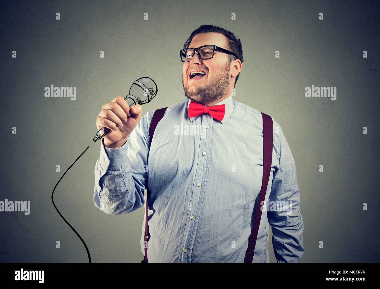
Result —
M 216 45 L 237 56 L 215 50 L 211 59 L 199 59 L 195 53 L 190 61 L 184 62 L 182 84 L 186 97 L 203 105 L 213 105 L 230 96 L 235 87 L 242 69 L 242 45 L 232 32 L 212 25 L 202 25 L 186 40 L 184 49 L 203 45 Z M 190 72 L 194 70 L 206 74 L 202 78 L 191 78 Z

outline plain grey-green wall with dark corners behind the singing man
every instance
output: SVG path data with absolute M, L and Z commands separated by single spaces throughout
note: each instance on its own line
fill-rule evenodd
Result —
M 142 260 L 144 208 L 111 216 L 93 205 L 100 153 L 100 142 L 92 141 L 95 121 L 103 104 L 125 97 L 142 76 L 153 78 L 159 89 L 143 114 L 185 99 L 179 50 L 202 24 L 221 26 L 241 39 L 244 62 L 233 98 L 271 115 L 283 128 L 301 193 L 301 262 L 379 262 L 378 2 L 1 5 L 0 200 L 31 202 L 29 215 L 0 212 L 1 262 L 88 262 L 82 242 L 51 202 L 55 184 L 87 146 L 55 189 L 54 202 L 86 242 L 92 262 Z M 318 19 L 320 12 L 324 20 Z M 11 57 L 13 50 L 17 58 Z M 276 50 L 280 58 L 274 57 Z M 76 86 L 76 100 L 45 98 L 44 88 L 52 84 Z M 336 101 L 306 98 L 304 89 L 312 84 L 336 86 Z M 57 164 L 61 172 L 55 171 Z M 320 164 L 324 172 L 318 171 Z

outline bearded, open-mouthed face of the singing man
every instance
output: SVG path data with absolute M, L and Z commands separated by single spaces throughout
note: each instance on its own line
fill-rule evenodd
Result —
M 216 32 L 196 34 L 188 48 L 198 48 L 202 45 L 216 45 L 230 50 L 227 38 Z M 190 78 L 191 71 L 199 70 L 206 74 L 201 78 Z M 190 61 L 184 62 L 182 85 L 185 96 L 203 105 L 213 105 L 230 96 L 232 81 L 234 78 L 231 77 L 231 64 L 226 53 L 215 50 L 211 59 L 199 59 L 195 53 Z

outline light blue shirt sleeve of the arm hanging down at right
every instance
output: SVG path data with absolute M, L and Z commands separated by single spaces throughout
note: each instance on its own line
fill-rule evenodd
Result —
M 277 262 L 299 262 L 304 252 L 304 222 L 300 212 L 296 165 L 282 128 L 277 126 L 279 133 L 274 133 L 274 148 L 279 169 L 274 173 L 268 200 L 270 205 L 275 204 L 276 209 L 269 210 L 267 216 L 272 226 L 272 244 Z

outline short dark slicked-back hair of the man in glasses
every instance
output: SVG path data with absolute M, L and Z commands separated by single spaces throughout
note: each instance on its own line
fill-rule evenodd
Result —
M 193 40 L 193 37 L 196 34 L 207 33 L 207 32 L 218 32 L 218 33 L 223 34 L 225 37 L 227 37 L 228 47 L 226 49 L 232 51 L 237 56 L 237 58 L 236 58 L 235 56 L 228 54 L 228 59 L 230 62 L 229 64 L 231 64 L 231 61 L 235 60 L 235 58 L 239 59 L 241 61 L 241 63 L 243 63 L 243 50 L 242 50 L 242 45 L 241 45 L 240 39 L 239 38 L 236 39 L 235 35 L 231 31 L 226 30 L 224 28 L 220 28 L 219 26 L 202 25 L 199 28 L 195 29 L 193 31 L 193 33 L 190 35 L 190 37 L 186 40 L 186 42 L 184 44 L 184 49 L 188 48 L 188 46 L 190 45 L 190 42 Z M 236 85 L 237 78 L 239 78 L 239 75 L 240 75 L 240 73 L 238 75 L 236 75 L 234 87 Z

